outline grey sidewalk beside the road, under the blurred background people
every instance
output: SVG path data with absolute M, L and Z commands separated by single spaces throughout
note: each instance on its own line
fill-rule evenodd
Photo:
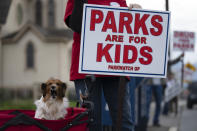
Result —
M 148 131 L 178 131 L 181 116 L 182 116 L 182 111 L 185 106 L 185 101 L 184 100 L 179 100 L 178 103 L 178 115 L 175 116 L 174 113 L 169 113 L 168 116 L 160 115 L 160 124 L 161 127 L 154 127 L 152 126 L 152 119 L 154 115 L 154 106 L 155 103 L 151 103 L 151 110 L 150 110 L 150 120 L 148 124 Z

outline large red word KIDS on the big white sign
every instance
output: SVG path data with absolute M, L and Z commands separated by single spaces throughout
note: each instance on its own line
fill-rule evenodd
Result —
M 121 45 L 119 44 L 103 44 L 98 43 L 97 44 L 97 55 L 96 55 L 96 61 L 102 62 L 103 57 L 106 60 L 107 63 L 120 63 L 121 61 L 124 64 L 133 64 L 137 60 L 142 65 L 148 65 L 151 64 L 153 58 L 152 58 L 152 48 L 149 46 L 143 46 L 139 49 L 133 46 L 133 45 L 122 45 L 123 52 L 121 52 Z M 112 48 L 115 48 L 115 56 L 111 56 L 110 50 Z M 120 56 L 121 53 L 123 53 L 123 59 L 121 60 Z

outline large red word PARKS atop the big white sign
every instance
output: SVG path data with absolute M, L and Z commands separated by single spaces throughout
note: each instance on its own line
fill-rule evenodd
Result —
M 146 25 L 148 19 L 150 19 L 152 25 L 149 28 Z M 142 30 L 143 35 L 159 36 L 163 31 L 161 24 L 163 18 L 160 15 L 150 16 L 149 14 L 120 12 L 118 21 L 119 24 L 116 23 L 113 11 L 108 11 L 105 16 L 101 10 L 93 9 L 91 10 L 90 31 L 95 31 L 98 24 L 102 24 L 102 29 L 100 30 L 102 32 L 111 30 L 113 33 L 125 33 L 125 28 L 128 34 L 139 34 L 140 30 Z M 132 23 L 134 23 L 134 27 L 131 26 Z

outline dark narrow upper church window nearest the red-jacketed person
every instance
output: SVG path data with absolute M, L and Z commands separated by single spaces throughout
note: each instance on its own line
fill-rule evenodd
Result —
M 48 26 L 55 26 L 55 5 L 54 0 L 48 1 Z

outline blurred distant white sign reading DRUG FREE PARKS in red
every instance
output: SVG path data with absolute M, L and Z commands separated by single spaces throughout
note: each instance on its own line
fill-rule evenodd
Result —
M 187 31 L 174 31 L 173 49 L 175 51 L 194 51 L 195 33 Z

